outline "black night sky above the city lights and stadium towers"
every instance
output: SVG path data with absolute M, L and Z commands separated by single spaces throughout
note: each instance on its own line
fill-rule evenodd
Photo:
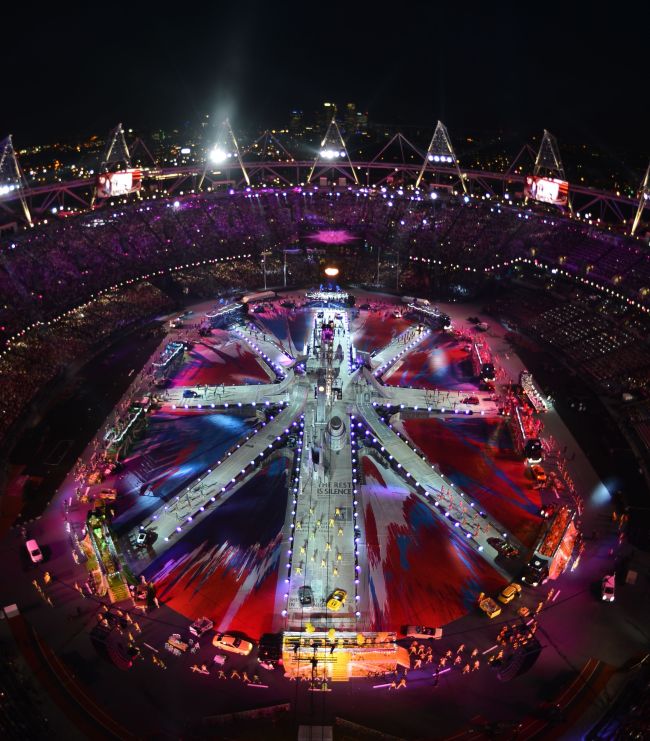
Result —
M 14 3 L 3 11 L 0 136 L 27 144 L 206 113 L 281 127 L 292 108 L 350 100 L 375 122 L 441 118 L 452 132 L 521 139 L 548 128 L 604 151 L 647 152 L 639 3 L 440 6 Z

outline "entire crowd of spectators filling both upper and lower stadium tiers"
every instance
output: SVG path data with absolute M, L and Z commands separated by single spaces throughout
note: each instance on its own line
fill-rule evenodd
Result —
M 105 206 L 0 243 L 0 350 L 7 350 L 0 360 L 0 429 L 43 383 L 124 323 L 183 297 L 258 288 L 265 272 L 269 287 L 321 282 L 325 248 L 305 237 L 324 228 L 359 238 L 352 247 L 335 248 L 341 274 L 357 285 L 379 282 L 427 295 L 435 270 L 480 280 L 500 263 L 527 257 L 637 296 L 650 287 L 648 257 L 636 244 L 490 200 L 310 188 Z M 589 298 L 569 299 L 541 292 L 533 302 L 541 303 L 529 310 L 528 298 L 513 305 L 510 319 L 518 317 L 566 353 L 604 390 L 650 394 L 644 328 L 633 326 L 630 315 L 617 315 L 620 302 L 595 310 Z

